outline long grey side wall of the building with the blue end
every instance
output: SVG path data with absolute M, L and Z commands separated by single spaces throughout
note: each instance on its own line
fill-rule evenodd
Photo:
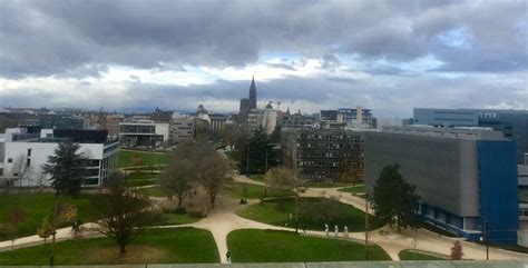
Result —
M 399 162 L 422 201 L 463 217 L 479 215 L 475 141 L 389 132 L 365 132 L 366 191 L 381 169 Z

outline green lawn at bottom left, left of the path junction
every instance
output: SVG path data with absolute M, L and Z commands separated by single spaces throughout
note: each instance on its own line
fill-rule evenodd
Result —
M 119 255 L 109 238 L 56 244 L 56 265 L 207 264 L 219 262 L 213 235 L 204 229 L 150 229 L 136 238 L 127 254 Z M 48 247 L 35 246 L 0 252 L 0 266 L 46 266 Z

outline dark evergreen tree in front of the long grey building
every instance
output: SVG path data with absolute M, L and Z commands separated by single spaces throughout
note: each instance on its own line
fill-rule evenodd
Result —
M 373 209 L 381 224 L 394 224 L 400 228 L 415 228 L 419 226 L 415 211 L 420 196 L 417 187 L 409 183 L 400 175 L 399 163 L 384 167 L 374 185 Z

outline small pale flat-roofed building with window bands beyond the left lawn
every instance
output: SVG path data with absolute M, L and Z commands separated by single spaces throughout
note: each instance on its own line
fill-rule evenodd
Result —
M 119 123 L 119 141 L 123 148 L 157 148 L 168 141 L 169 125 L 153 120 L 134 120 Z

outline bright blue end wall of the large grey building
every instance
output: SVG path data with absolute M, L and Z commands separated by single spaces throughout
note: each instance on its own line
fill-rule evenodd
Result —
M 516 143 L 478 141 L 480 212 L 491 242 L 516 244 L 519 228 Z M 483 231 L 483 225 L 481 225 Z

